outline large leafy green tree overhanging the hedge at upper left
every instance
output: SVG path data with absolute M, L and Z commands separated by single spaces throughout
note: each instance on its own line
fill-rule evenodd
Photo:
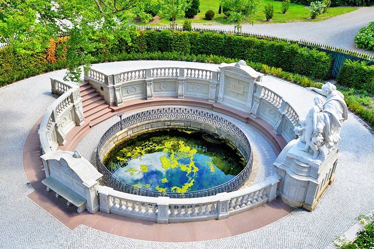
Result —
M 45 51 L 51 38 L 69 36 L 66 79 L 79 81 L 80 66 L 88 69 L 90 52 L 102 47 L 100 39 L 107 44 L 131 42 L 130 33 L 136 29 L 129 20 L 150 20 L 144 7 L 151 1 L 155 0 L 0 0 L 0 42 L 32 53 Z

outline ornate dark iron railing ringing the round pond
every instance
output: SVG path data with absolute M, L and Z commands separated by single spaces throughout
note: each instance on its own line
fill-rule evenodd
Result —
M 158 192 L 152 191 L 147 189 L 142 189 L 138 187 L 134 187 L 127 183 L 124 183 L 122 180 L 118 179 L 116 176 L 113 175 L 113 172 L 107 169 L 107 167 L 102 163 L 100 157 L 100 151 L 102 147 L 106 144 L 106 142 L 111 139 L 114 135 L 121 131 L 121 129 L 126 129 L 133 125 L 146 122 L 146 121 L 157 121 L 160 119 L 188 119 L 191 121 L 200 121 L 207 124 L 211 124 L 219 128 L 220 130 L 232 134 L 244 147 L 244 151 L 241 151 L 244 158 L 247 161 L 246 166 L 244 169 L 236 175 L 234 178 L 229 180 L 228 182 L 199 191 L 191 191 L 191 192 L 184 192 L 184 193 L 177 193 L 177 192 Z M 248 141 L 244 132 L 237 127 L 231 121 L 227 119 L 215 115 L 212 112 L 199 110 L 199 109 L 192 109 L 192 108 L 182 108 L 182 107 L 168 107 L 168 108 L 156 108 L 150 110 L 144 110 L 128 116 L 121 121 L 117 122 L 113 126 L 111 126 L 101 137 L 99 144 L 96 150 L 96 166 L 97 170 L 103 174 L 102 181 L 103 183 L 113 188 L 114 190 L 121 191 L 124 193 L 135 194 L 135 195 L 142 195 L 142 196 L 151 196 L 151 197 L 158 197 L 158 196 L 167 196 L 170 198 L 196 198 L 196 197 L 205 197 L 211 196 L 222 192 L 232 192 L 238 190 L 241 186 L 244 185 L 248 177 L 250 177 L 252 171 L 252 164 L 253 164 L 253 153 L 251 149 L 251 144 Z

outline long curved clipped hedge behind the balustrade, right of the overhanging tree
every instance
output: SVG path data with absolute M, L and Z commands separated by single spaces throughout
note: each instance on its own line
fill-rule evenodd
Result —
M 283 71 L 328 79 L 332 58 L 324 52 L 300 48 L 297 44 L 267 41 L 254 37 L 214 32 L 142 31 L 133 37 L 131 46 L 121 52 L 179 52 L 240 58 L 280 67 Z

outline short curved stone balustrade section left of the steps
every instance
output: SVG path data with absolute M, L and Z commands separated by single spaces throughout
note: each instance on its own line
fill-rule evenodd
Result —
M 51 79 L 52 94 L 59 96 L 41 119 L 39 140 L 43 153 L 64 145 L 66 134 L 84 122 L 82 98 L 79 87 L 57 79 Z

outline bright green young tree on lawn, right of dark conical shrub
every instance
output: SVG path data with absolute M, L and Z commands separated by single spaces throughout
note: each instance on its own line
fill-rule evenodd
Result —
M 262 0 L 221 0 L 220 5 L 222 9 L 227 9 L 224 14 L 227 16 L 229 22 L 250 22 L 255 21 L 254 14 L 263 5 Z

